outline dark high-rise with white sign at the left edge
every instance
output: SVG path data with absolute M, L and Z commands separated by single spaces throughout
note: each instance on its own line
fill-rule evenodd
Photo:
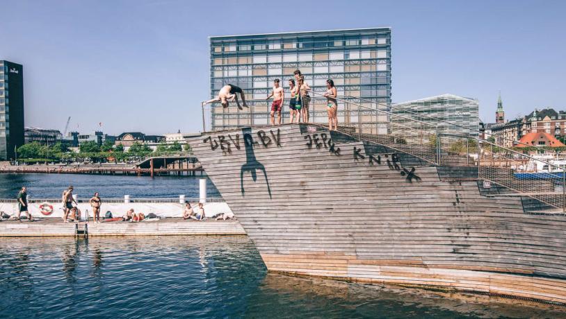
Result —
M 0 60 L 0 160 L 15 159 L 24 145 L 24 74 L 22 64 Z

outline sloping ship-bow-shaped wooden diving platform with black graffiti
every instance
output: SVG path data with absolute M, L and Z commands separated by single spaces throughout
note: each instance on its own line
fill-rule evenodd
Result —
M 189 141 L 268 270 L 566 303 L 562 180 L 516 180 L 490 163 L 520 155 L 488 141 L 344 107 L 359 121 L 338 131 L 250 123 Z

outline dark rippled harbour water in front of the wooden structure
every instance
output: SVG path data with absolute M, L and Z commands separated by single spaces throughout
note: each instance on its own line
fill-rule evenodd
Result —
M 268 274 L 245 236 L 0 239 L 0 265 L 0 318 L 565 315 L 559 307 Z

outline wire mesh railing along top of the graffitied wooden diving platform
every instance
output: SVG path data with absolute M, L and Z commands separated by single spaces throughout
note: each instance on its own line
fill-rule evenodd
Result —
M 307 106 L 309 120 L 302 119 L 302 123 L 324 126 L 328 123 L 328 99 L 319 92 L 309 91 L 309 94 L 312 95 Z M 450 127 L 480 132 L 458 123 L 411 110 L 398 110 L 364 98 L 337 96 L 335 99 L 338 103 L 337 131 L 343 134 L 414 155 L 435 165 L 476 166 L 478 180 L 499 184 L 515 192 L 508 196 L 535 198 L 566 213 L 565 165 L 498 146 L 475 134 L 451 133 Z M 252 99 L 248 105 L 247 109 L 236 112 L 218 104 L 203 107 L 203 121 L 207 118 L 205 112 L 209 112 L 211 119 L 209 127 L 203 126 L 204 131 L 268 126 L 270 103 L 265 99 Z M 282 123 L 289 123 L 287 105 L 282 110 Z M 439 123 L 445 124 L 444 127 Z M 544 166 L 544 173 L 536 169 L 538 166 Z

